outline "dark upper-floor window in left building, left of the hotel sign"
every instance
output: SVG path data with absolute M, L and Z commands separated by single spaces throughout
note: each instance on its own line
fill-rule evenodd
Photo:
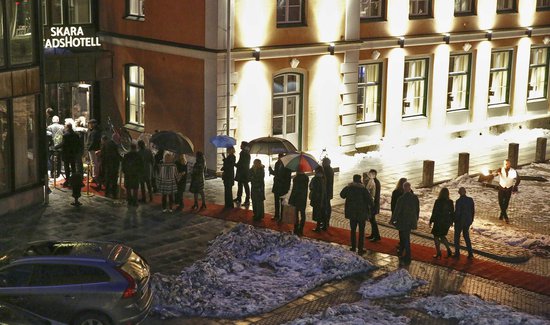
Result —
M 10 60 L 13 65 L 33 62 L 32 0 L 8 0 Z

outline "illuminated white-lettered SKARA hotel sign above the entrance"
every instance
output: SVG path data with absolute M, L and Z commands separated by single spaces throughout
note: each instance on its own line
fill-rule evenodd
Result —
M 98 46 L 101 46 L 101 43 L 92 26 L 51 26 L 44 29 L 44 48 Z

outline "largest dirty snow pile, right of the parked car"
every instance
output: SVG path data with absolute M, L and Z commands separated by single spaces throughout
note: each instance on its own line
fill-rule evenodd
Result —
M 179 275 L 153 275 L 154 311 L 162 317 L 259 314 L 324 282 L 374 268 L 338 245 L 239 224 Z

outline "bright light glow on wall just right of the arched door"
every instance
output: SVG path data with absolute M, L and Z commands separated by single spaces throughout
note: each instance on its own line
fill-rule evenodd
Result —
M 308 150 L 338 145 L 340 61 L 323 55 L 310 70 L 308 107 Z

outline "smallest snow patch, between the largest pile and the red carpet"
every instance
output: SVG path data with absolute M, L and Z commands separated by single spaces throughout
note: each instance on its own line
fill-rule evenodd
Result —
M 406 295 L 412 289 L 428 282 L 413 278 L 405 269 L 390 273 L 382 280 L 367 280 L 361 284 L 359 293 L 363 298 L 386 298 Z

